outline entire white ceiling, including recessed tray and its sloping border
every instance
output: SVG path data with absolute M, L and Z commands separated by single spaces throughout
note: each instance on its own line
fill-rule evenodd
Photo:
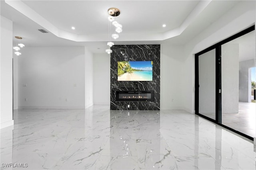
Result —
M 168 41 L 183 45 L 240 2 L 1 0 L 0 12 L 13 21 L 14 36 L 23 37 L 26 46 L 86 46 L 92 53 L 104 53 L 109 40 L 108 8 L 121 11 L 116 20 L 123 25 L 123 32 L 115 44 L 161 44 Z M 76 29 L 72 30 L 72 26 Z M 38 29 L 46 29 L 49 33 L 41 33 Z

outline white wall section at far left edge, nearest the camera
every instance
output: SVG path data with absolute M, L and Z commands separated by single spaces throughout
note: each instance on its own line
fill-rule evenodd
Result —
M 1 129 L 12 120 L 12 21 L 1 16 L 0 29 L 0 122 Z

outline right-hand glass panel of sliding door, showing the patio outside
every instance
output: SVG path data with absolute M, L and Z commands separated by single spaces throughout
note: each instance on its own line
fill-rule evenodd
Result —
M 222 124 L 255 137 L 256 103 L 251 68 L 255 66 L 254 31 L 221 46 Z

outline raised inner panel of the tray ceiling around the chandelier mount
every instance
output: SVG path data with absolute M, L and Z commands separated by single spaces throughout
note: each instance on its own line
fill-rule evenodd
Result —
M 162 33 L 179 27 L 198 4 L 195 1 L 54 1 L 22 0 L 40 16 L 53 23 L 57 28 L 76 34 L 108 34 L 108 8 L 121 10 L 116 17 L 124 27 L 125 33 Z M 152 24 L 154 21 L 154 24 Z M 162 24 L 167 27 L 163 28 Z

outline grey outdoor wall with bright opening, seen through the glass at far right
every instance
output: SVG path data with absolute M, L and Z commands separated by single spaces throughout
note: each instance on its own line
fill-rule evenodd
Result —
M 251 102 L 251 72 L 250 67 L 255 67 L 255 59 L 241 61 L 239 63 L 239 101 Z

